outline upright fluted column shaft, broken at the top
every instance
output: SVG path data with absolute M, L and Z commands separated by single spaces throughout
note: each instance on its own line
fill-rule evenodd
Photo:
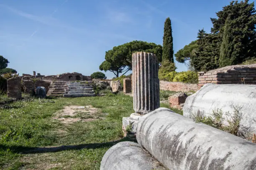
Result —
M 148 52 L 134 52 L 132 67 L 133 109 L 144 115 L 160 107 L 157 57 Z

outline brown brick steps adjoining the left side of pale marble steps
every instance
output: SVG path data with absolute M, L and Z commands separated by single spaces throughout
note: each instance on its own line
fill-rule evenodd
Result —
M 51 82 L 49 91 L 47 92 L 47 96 L 50 97 L 63 97 L 63 94 L 65 93 L 65 89 L 67 89 L 68 82 L 65 81 L 56 81 Z

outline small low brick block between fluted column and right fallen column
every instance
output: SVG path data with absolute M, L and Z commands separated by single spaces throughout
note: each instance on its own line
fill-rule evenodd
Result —
M 186 101 L 187 95 L 185 93 L 176 93 L 168 97 L 170 107 L 182 110 Z

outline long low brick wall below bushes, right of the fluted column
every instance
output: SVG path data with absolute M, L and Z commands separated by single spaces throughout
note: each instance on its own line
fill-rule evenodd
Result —
M 168 81 L 160 81 L 160 90 L 170 90 L 170 91 L 182 91 L 188 92 L 190 90 L 198 90 L 197 84 L 189 84 L 183 82 L 168 82 Z

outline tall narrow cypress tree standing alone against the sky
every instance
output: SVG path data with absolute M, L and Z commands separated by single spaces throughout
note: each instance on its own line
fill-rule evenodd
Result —
M 170 18 L 166 18 L 164 22 L 164 36 L 163 36 L 163 60 L 173 60 L 173 38 L 172 38 L 172 24 Z

